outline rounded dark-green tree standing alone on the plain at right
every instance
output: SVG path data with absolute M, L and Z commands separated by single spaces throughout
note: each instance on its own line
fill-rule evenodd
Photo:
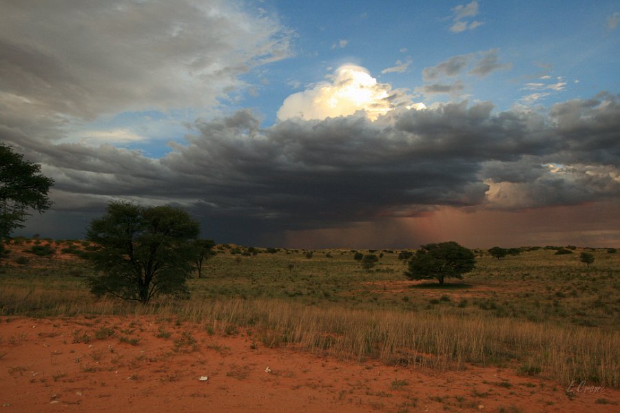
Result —
M 472 251 L 456 242 L 422 245 L 409 261 L 409 279 L 437 279 L 444 284 L 444 279 L 463 278 L 463 274 L 475 268 L 475 255 Z

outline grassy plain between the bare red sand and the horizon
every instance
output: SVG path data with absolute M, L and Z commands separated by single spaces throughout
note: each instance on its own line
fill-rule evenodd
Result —
M 0 269 L 3 316 L 156 315 L 226 334 L 249 326 L 262 345 L 347 359 L 437 370 L 473 363 L 620 387 L 620 253 L 606 249 L 590 251 L 591 266 L 579 262 L 581 248 L 502 260 L 479 251 L 473 273 L 440 288 L 406 279 L 399 251 L 375 251 L 382 258 L 365 271 L 348 249 L 307 258 L 218 246 L 207 276 L 190 280 L 189 301 L 141 306 L 87 292 L 91 270 L 75 255 L 87 244 L 40 240 L 56 251 L 44 256 L 18 244 Z

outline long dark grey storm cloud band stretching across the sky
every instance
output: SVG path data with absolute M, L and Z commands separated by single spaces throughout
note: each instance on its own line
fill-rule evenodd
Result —
M 115 198 L 172 202 L 210 236 L 275 244 L 289 230 L 437 207 L 517 211 L 617 200 L 618 130 L 618 98 L 602 94 L 546 115 L 462 102 L 376 122 L 298 119 L 267 129 L 243 110 L 196 121 L 186 145 L 158 160 L 110 145 L 22 143 L 56 180 L 59 211 L 94 213 Z

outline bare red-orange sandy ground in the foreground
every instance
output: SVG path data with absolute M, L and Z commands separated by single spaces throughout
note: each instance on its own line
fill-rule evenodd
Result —
M 155 317 L 0 319 L 0 412 L 620 412 L 618 390 L 569 384 L 339 361 Z

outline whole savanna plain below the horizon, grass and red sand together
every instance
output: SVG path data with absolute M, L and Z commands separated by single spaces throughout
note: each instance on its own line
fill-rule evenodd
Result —
M 475 270 L 440 286 L 405 277 L 400 250 L 219 244 L 189 300 L 144 305 L 90 294 L 91 247 L 7 245 L 6 412 L 620 410 L 609 248 L 475 250 Z

